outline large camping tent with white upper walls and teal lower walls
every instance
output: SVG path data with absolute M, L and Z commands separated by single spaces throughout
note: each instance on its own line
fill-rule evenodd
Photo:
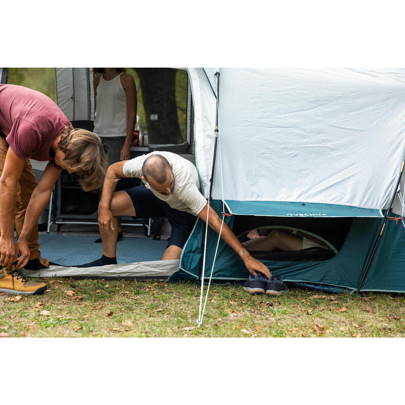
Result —
M 232 214 L 225 222 L 241 238 L 251 229 L 286 228 L 329 244 L 328 252 L 257 254 L 286 281 L 326 289 L 355 291 L 361 284 L 360 291 L 405 292 L 405 225 L 401 219 L 385 219 L 394 197 L 389 216 L 403 215 L 405 179 L 399 187 L 397 183 L 405 155 L 405 69 L 225 68 L 220 69 L 219 91 L 216 70 L 187 69 L 195 161 L 206 198 L 219 101 L 211 207 Z M 69 77 L 65 74 L 59 89 L 71 86 Z M 86 74 L 80 77 L 83 83 L 89 80 Z M 68 93 L 58 96 L 61 107 L 71 103 Z M 88 119 L 93 114 L 91 91 L 81 94 L 73 99 L 85 101 L 80 107 L 85 117 L 76 119 Z M 153 268 L 155 276 L 173 273 L 172 281 L 198 280 L 204 229 L 198 220 L 180 262 L 173 261 L 170 268 L 161 261 L 138 263 L 133 275 L 147 275 Z M 214 257 L 214 280 L 247 278 L 244 264 L 222 240 L 215 255 L 218 237 L 211 229 L 207 240 L 205 281 Z M 119 267 L 64 268 L 57 274 L 97 276 L 102 271 L 103 276 L 106 271 L 120 276 Z M 125 271 L 132 275 L 131 266 Z

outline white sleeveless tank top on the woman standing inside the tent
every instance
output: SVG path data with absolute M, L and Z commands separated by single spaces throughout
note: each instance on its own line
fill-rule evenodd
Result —
M 127 96 L 120 76 L 105 80 L 100 76 L 97 86 L 97 110 L 94 132 L 103 137 L 127 136 Z

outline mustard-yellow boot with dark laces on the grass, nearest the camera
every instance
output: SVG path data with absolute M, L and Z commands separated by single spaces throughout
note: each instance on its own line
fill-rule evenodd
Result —
M 16 270 L 15 264 L 11 269 L 0 269 L 0 292 L 6 294 L 42 294 L 47 289 L 45 282 L 29 281 L 20 271 Z

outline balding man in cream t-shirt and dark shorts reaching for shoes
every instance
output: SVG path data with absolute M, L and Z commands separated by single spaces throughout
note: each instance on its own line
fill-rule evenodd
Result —
M 114 193 L 120 177 L 137 177 L 144 185 Z M 112 164 L 104 180 L 99 205 L 99 227 L 103 241 L 103 256 L 80 267 L 116 264 L 118 216 L 138 218 L 166 217 L 172 226 L 168 247 L 162 260 L 180 259 L 181 251 L 197 217 L 207 222 L 217 233 L 222 220 L 209 208 L 201 194 L 195 166 L 171 152 L 151 152 L 131 160 Z M 270 277 L 270 271 L 253 258 L 224 223 L 221 237 L 245 262 L 254 275 L 260 271 Z

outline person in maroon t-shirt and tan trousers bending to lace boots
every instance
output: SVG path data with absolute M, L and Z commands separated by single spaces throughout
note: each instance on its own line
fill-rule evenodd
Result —
M 29 158 L 49 161 L 38 184 Z M 107 169 L 100 138 L 90 131 L 73 129 L 44 94 L 0 85 L 0 292 L 45 291 L 44 283 L 27 281 L 19 270 L 37 270 L 49 264 L 39 257 L 37 221 L 62 169 L 77 173 L 85 191 L 100 187 Z

